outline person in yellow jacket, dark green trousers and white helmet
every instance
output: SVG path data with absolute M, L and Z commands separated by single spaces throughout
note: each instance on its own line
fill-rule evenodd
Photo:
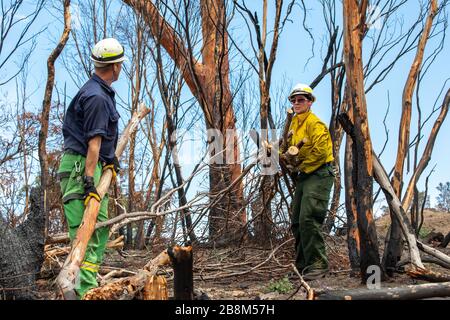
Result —
M 314 280 L 328 272 L 321 229 L 334 182 L 333 148 L 327 126 L 311 112 L 315 101 L 312 89 L 297 84 L 289 100 L 295 112 L 289 128 L 292 131 L 289 145 L 305 142 L 298 154 L 299 174 L 292 204 L 296 267 L 305 280 Z

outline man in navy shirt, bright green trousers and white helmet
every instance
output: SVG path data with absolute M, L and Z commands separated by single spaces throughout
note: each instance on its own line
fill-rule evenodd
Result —
M 100 198 L 96 185 L 103 170 L 115 177 L 119 113 L 111 84 L 119 78 L 124 50 L 113 38 L 99 41 L 92 49 L 95 71 L 73 98 L 64 117 L 64 155 L 58 169 L 64 214 L 73 240 L 89 201 L 100 202 L 98 221 L 108 219 L 108 195 Z M 96 276 L 103 260 L 108 228 L 94 231 L 80 267 L 75 291 L 79 298 L 97 287 Z

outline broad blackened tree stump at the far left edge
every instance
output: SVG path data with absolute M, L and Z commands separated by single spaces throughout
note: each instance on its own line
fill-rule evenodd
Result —
M 45 216 L 40 190 L 31 190 L 27 220 L 12 229 L 0 220 L 0 299 L 35 298 L 35 281 L 44 261 Z

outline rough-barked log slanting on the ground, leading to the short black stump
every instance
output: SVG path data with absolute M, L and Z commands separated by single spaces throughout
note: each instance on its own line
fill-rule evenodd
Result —
M 151 260 L 144 270 L 136 275 L 110 282 L 102 287 L 89 290 L 83 300 L 131 300 L 141 293 L 149 279 L 156 275 L 160 266 L 170 263 L 167 250 Z M 148 285 L 149 286 L 149 285 Z M 146 293 L 149 296 L 149 293 Z

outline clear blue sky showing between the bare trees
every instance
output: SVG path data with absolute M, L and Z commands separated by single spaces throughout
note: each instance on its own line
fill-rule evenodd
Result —
M 72 2 L 75 4 L 75 6 L 73 6 L 73 8 L 75 9 L 73 10 L 75 10 L 76 13 L 78 12 L 79 14 L 82 14 L 79 12 L 79 10 L 76 9 L 76 3 L 78 1 Z M 251 5 L 253 6 L 253 10 L 258 10 L 259 17 L 262 17 L 261 8 L 256 7 L 256 3 L 259 2 L 247 2 L 251 3 Z M 287 1 L 285 1 L 285 5 L 286 2 Z M 281 92 L 287 94 L 290 88 L 295 83 L 311 82 L 316 77 L 316 75 L 320 73 L 320 69 L 322 67 L 322 57 L 324 56 L 325 51 L 322 41 L 326 33 L 322 17 L 322 8 L 318 2 L 305 2 L 308 9 L 308 16 L 306 17 L 305 23 L 307 27 L 310 28 L 310 31 L 315 38 L 315 57 L 310 59 L 312 42 L 302 26 L 303 13 L 300 9 L 300 6 L 297 5 L 294 7 L 291 16 L 293 23 L 288 22 L 286 24 L 285 30 L 280 37 L 277 60 L 274 67 L 272 81 L 272 94 L 274 95 L 278 94 L 280 90 Z M 28 1 L 28 3 L 30 4 L 32 2 Z M 111 6 L 111 10 L 117 10 L 118 4 L 120 4 L 120 2 L 116 1 L 114 5 Z M 420 2 L 413 0 L 408 1 L 405 7 L 399 12 L 398 19 L 404 22 L 405 28 L 409 26 L 417 17 L 419 8 Z M 340 5 L 337 4 L 337 21 L 342 29 L 341 11 L 342 9 L 340 8 Z M 448 9 L 446 13 L 448 14 Z M 269 21 L 273 20 L 273 15 L 274 8 L 270 6 Z M 76 14 L 74 16 L 74 21 L 74 26 L 76 27 L 78 23 Z M 35 24 L 35 30 L 39 30 L 44 26 L 48 26 L 48 30 L 39 36 L 36 51 L 29 61 L 30 72 L 28 76 L 28 90 L 29 92 L 33 92 L 29 99 L 29 103 L 27 104 L 30 110 L 39 110 L 41 108 L 44 86 L 47 77 L 45 64 L 50 51 L 54 48 L 54 44 L 60 36 L 62 30 L 62 14 L 56 13 L 54 9 L 49 9 L 43 12 L 41 17 Z M 237 43 L 242 45 L 244 48 L 246 47 L 246 52 L 251 55 L 251 51 L 248 50 L 248 31 L 239 15 L 235 15 L 235 20 L 232 21 L 231 26 L 231 36 Z M 271 24 L 269 24 L 268 30 L 271 30 Z M 438 39 L 434 39 L 429 42 L 425 51 L 426 56 L 432 53 L 436 48 L 438 43 L 436 40 Z M 268 37 L 268 43 L 270 43 L 270 36 Z M 431 110 L 437 98 L 438 104 L 442 103 L 443 101 L 443 95 L 439 96 L 439 93 L 445 81 L 450 77 L 450 69 L 448 68 L 448 57 L 450 56 L 449 44 L 449 41 L 446 40 L 443 51 L 436 58 L 434 64 L 430 67 L 427 75 L 422 81 L 420 99 L 422 104 L 422 112 L 424 113 L 424 115 L 427 115 L 429 113 L 429 110 Z M 370 46 L 369 40 L 366 40 L 365 46 L 366 48 Z M 269 48 L 267 49 L 267 51 L 268 50 Z M 387 171 L 392 168 L 395 162 L 398 127 L 401 114 L 401 93 L 403 91 L 403 86 L 406 81 L 406 77 L 414 54 L 415 51 L 413 50 L 409 54 L 402 57 L 400 62 L 395 66 L 389 76 L 367 95 L 369 127 L 374 149 L 376 152 L 379 152 L 381 150 L 385 142 L 385 129 L 382 122 L 388 107 L 388 94 L 390 97 L 389 115 L 386 121 L 390 136 L 386 151 L 381 157 L 382 163 Z M 235 60 L 232 61 L 232 63 L 234 64 L 233 66 L 237 66 L 239 63 L 242 63 L 242 59 L 237 56 Z M 67 71 L 62 66 L 61 61 L 58 61 L 56 65 L 57 84 L 59 86 L 62 86 L 63 83 L 66 83 L 68 95 L 73 96 L 76 93 L 77 88 L 73 84 L 71 79 L 67 76 L 66 72 Z M 249 81 L 253 81 L 254 85 L 257 86 L 257 80 L 254 75 Z M 444 88 L 444 94 L 449 85 L 450 82 L 448 82 L 446 87 Z M 116 88 L 119 95 L 121 95 L 126 100 L 128 85 L 126 84 L 124 77 L 122 77 L 122 79 L 116 82 L 113 86 Z M 10 101 L 14 101 L 14 82 L 11 82 L 7 86 L 0 88 L 0 91 L 2 96 L 5 94 L 5 92 L 8 92 L 8 99 Z M 329 78 L 325 78 L 319 84 L 319 86 L 315 89 L 315 94 L 317 96 L 317 102 L 315 103 L 315 105 L 313 105 L 313 111 L 326 123 L 328 123 L 331 116 Z M 190 98 L 190 96 L 189 94 L 186 94 L 186 99 L 188 98 Z M 257 101 L 258 97 L 254 97 L 254 99 Z M 282 97 L 276 99 L 277 101 L 279 101 L 279 103 L 274 103 L 274 112 L 280 114 L 280 112 L 283 112 L 283 110 L 285 110 L 285 108 L 289 106 L 289 103 L 287 99 L 283 101 Z M 424 129 L 425 141 L 422 142 L 422 148 L 420 150 L 423 150 L 429 134 L 429 130 L 433 125 L 435 118 L 436 115 Z M 126 119 L 128 119 L 128 115 L 123 116 L 122 119 L 125 121 Z M 415 136 L 416 121 L 417 112 L 414 105 L 411 138 Z M 435 197 L 437 195 L 436 186 L 438 185 L 438 183 L 450 181 L 450 170 L 447 165 L 447 158 L 449 153 L 445 147 L 445 141 L 449 136 L 450 125 L 449 120 L 447 119 L 441 127 L 441 131 L 439 132 L 439 136 L 435 143 L 432 159 L 418 184 L 419 190 L 423 190 L 425 177 L 429 174 L 431 168 L 436 165 L 435 172 L 431 175 L 429 180 L 429 194 L 431 195 L 432 205 L 435 203 Z M 413 153 L 411 153 L 411 166 L 412 155 Z M 190 168 L 186 167 L 183 169 L 185 171 L 185 176 L 187 176 L 190 172 Z M 408 181 L 408 177 L 409 176 L 407 176 L 406 181 Z

